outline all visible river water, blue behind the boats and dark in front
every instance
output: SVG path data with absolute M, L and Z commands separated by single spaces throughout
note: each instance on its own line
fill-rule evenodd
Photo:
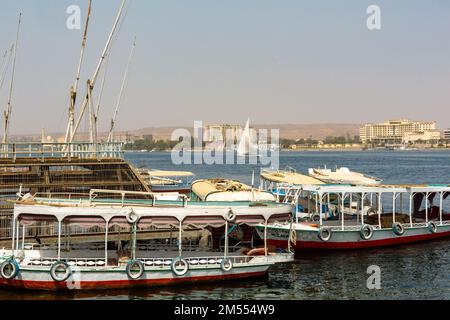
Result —
M 193 171 L 197 178 L 250 183 L 258 166 L 172 165 L 169 153 L 130 153 L 137 166 Z M 280 168 L 348 166 L 386 183 L 450 183 L 450 152 L 282 152 Z M 0 299 L 450 299 L 450 239 L 392 248 L 302 253 L 274 266 L 267 279 L 179 288 L 70 294 L 0 291 Z M 367 289 L 367 269 L 381 270 L 381 289 Z

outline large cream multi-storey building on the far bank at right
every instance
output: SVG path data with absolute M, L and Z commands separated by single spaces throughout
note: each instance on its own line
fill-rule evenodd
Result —
M 360 138 L 363 143 L 408 143 L 439 140 L 441 134 L 435 121 L 389 120 L 363 125 Z

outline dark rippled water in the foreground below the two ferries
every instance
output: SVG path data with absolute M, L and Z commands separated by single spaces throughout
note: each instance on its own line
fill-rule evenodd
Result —
M 45 293 L 0 291 L 0 299 L 450 299 L 449 241 L 348 252 L 302 253 L 267 278 L 198 286 Z M 367 268 L 381 268 L 381 290 L 369 290 Z

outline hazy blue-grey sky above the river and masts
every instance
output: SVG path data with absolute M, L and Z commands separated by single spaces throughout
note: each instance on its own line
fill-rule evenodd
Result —
M 450 127 L 450 1 L 129 0 L 100 111 L 109 126 L 133 37 L 119 130 L 209 123 L 437 120 Z M 87 0 L 2 0 L 0 50 L 24 14 L 11 133 L 64 131 L 81 30 L 66 8 Z M 93 0 L 80 91 L 119 0 Z M 369 31 L 366 9 L 382 10 Z M 0 93 L 5 108 L 7 83 Z M 86 122 L 83 128 L 86 127 Z

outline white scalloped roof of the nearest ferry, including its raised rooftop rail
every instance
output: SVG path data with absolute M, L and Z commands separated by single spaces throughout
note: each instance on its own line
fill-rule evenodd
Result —
M 129 214 L 134 213 L 140 219 L 146 219 L 150 224 L 170 225 L 189 223 L 193 225 L 224 225 L 232 211 L 236 223 L 261 223 L 261 220 L 286 217 L 292 213 L 290 205 L 280 203 L 223 203 L 223 202 L 191 202 L 139 199 L 97 199 L 93 195 L 99 193 L 120 195 L 153 195 L 152 193 L 134 191 L 115 191 L 93 189 L 90 198 L 34 198 L 24 196 L 20 201 L 14 201 L 14 217 L 21 217 L 28 223 L 39 219 L 55 218 L 62 222 L 65 219 L 98 225 L 113 219 L 125 221 Z M 287 219 L 288 220 L 288 219 Z M 189 221 L 189 222 L 188 222 Z

